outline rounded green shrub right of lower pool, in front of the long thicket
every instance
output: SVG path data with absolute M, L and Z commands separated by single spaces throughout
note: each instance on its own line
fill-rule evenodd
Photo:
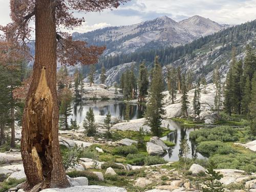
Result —
M 227 155 L 236 153 L 231 146 L 221 141 L 203 141 L 197 146 L 197 151 L 206 155 L 221 154 Z

